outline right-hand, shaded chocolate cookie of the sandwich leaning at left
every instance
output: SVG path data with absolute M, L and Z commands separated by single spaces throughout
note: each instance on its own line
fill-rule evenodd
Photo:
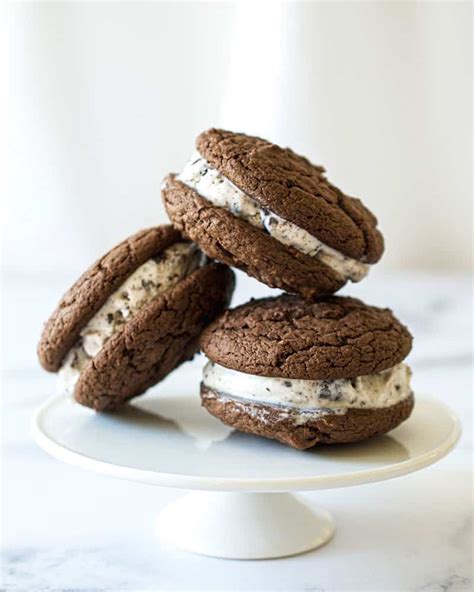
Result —
M 156 297 L 87 364 L 76 400 L 111 410 L 162 380 L 192 358 L 202 329 L 229 304 L 233 287 L 233 272 L 211 263 Z

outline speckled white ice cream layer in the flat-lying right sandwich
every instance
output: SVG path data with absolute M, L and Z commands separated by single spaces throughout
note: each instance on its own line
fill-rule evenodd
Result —
M 208 362 L 203 385 L 239 402 L 324 415 L 395 405 L 412 394 L 410 377 L 406 364 L 356 378 L 293 380 L 245 374 Z

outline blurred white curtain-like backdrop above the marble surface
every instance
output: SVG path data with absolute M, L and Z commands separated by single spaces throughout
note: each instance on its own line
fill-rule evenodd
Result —
M 164 222 L 161 179 L 222 126 L 290 145 L 361 197 L 384 268 L 469 267 L 470 3 L 4 10 L 7 266 L 72 278 Z

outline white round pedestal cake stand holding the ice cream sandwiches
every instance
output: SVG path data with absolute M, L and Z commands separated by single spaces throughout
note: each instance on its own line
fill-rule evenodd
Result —
M 334 533 L 326 511 L 310 509 L 288 492 L 406 475 L 445 456 L 461 432 L 448 407 L 417 398 L 411 418 L 388 436 L 301 452 L 222 425 L 190 394 L 193 383 L 186 393 L 167 381 L 115 414 L 53 397 L 33 418 L 35 440 L 85 469 L 200 490 L 161 511 L 161 539 L 215 557 L 263 559 L 314 549 Z

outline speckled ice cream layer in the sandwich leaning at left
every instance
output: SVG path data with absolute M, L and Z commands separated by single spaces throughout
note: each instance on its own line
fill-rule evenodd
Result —
M 206 263 L 194 243 L 175 243 L 138 267 L 87 323 L 58 373 L 58 390 L 72 394 L 84 366 L 139 310 Z

